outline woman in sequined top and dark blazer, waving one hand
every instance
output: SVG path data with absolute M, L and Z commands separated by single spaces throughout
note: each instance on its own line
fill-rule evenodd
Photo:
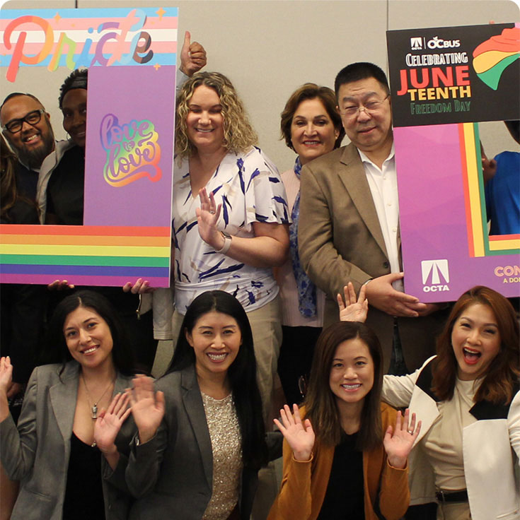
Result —
M 213 290 L 187 308 L 182 331 L 157 391 L 134 380 L 130 518 L 249 519 L 267 445 L 248 317 Z

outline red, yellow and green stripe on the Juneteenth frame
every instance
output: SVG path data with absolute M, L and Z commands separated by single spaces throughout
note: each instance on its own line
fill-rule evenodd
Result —
M 489 236 L 487 234 L 487 212 L 478 123 L 458 124 L 458 138 L 461 149 L 469 256 L 475 258 L 520 254 L 520 235 Z

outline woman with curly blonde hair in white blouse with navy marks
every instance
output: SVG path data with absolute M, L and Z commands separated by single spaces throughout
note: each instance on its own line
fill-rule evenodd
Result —
M 289 247 L 285 191 L 235 88 L 217 72 L 195 73 L 177 98 L 173 172 L 175 313 L 173 338 L 192 300 L 224 290 L 253 329 L 264 413 L 282 329 L 272 267 Z

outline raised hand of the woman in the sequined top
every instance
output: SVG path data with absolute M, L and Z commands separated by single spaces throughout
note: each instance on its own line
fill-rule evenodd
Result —
M 132 415 L 139 430 L 141 443 L 149 441 L 156 434 L 164 417 L 164 394 L 154 392 L 154 379 L 138 375 L 132 380 L 133 389 L 127 389 Z

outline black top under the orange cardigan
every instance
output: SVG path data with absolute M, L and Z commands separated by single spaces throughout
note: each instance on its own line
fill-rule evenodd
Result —
M 345 433 L 334 449 L 318 520 L 364 520 L 363 453 L 355 449 L 356 439 L 357 433 Z

